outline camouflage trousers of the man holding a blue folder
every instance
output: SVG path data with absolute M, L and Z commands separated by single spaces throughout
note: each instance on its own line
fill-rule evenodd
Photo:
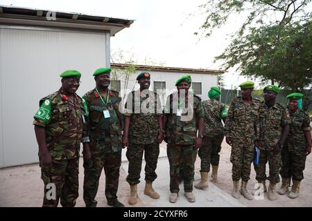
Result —
M 256 171 L 256 180 L 261 182 L 267 180 L 266 177 L 266 163 L 269 164 L 268 180 L 272 183 L 279 183 L 279 170 L 281 169 L 281 153 L 273 153 L 272 151 L 260 150 L 259 164 L 254 164 Z

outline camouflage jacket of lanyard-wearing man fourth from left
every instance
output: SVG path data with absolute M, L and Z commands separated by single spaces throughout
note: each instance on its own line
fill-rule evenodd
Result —
M 185 102 L 180 105 L 181 116 L 177 115 L 177 92 L 167 97 L 164 114 L 167 116 L 165 126 L 166 142 L 170 144 L 194 144 L 197 135 L 197 121 L 204 117 L 200 97 L 189 92 Z

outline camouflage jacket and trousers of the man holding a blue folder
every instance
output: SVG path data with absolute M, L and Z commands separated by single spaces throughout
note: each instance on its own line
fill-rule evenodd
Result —
M 277 146 L 285 124 L 288 124 L 289 113 L 284 106 L 275 103 L 268 108 L 265 102 L 259 108 L 260 117 L 260 156 L 259 165 L 254 165 L 258 182 L 264 181 L 266 177 L 266 163 L 269 163 L 270 176 L 268 180 L 277 184 L 279 182 L 279 169 L 281 168 L 281 153 L 273 153 L 272 149 Z

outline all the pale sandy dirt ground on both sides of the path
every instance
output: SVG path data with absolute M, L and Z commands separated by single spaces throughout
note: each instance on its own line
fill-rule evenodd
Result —
M 161 148 L 166 148 L 166 145 L 162 144 Z M 163 150 L 164 151 L 164 150 Z M 218 171 L 218 180 L 211 182 L 217 186 L 221 191 L 228 193 L 228 197 L 232 198 L 232 164 L 229 162 L 231 148 L 225 142 L 223 142 L 223 148 L 220 152 L 220 166 Z M 83 160 L 80 160 L 80 175 L 79 175 L 79 198 L 76 206 L 85 206 L 83 202 Z M 128 201 L 129 185 L 125 182 L 127 175 L 126 168 L 128 162 L 123 162 L 121 166 L 120 181 L 119 181 L 119 199 L 121 202 Z M 160 167 L 159 167 L 160 168 Z M 159 169 L 160 170 L 160 169 Z M 195 182 L 198 182 L 200 177 L 200 158 L 196 160 L 196 175 Z M 267 169 L 268 171 L 268 169 Z M 143 172 L 142 172 L 143 173 Z M 162 171 L 162 173 L 168 173 L 168 171 Z M 165 174 L 165 175 L 166 175 Z M 210 176 L 210 174 L 209 174 Z M 268 195 L 264 194 L 263 200 L 246 200 L 241 196 L 239 202 L 245 206 L 312 206 L 312 154 L 307 157 L 306 169 L 304 171 L 304 180 L 300 186 L 300 195 L 297 199 L 291 200 L 286 195 L 278 195 L 277 200 L 268 200 Z M 250 182 L 248 182 L 249 191 L 253 190 L 254 184 L 256 184 L 255 173 L 252 166 L 250 175 Z M 143 179 L 141 179 L 143 180 Z M 157 180 L 156 180 L 157 181 Z M 159 182 L 169 182 L 169 177 Z M 158 182 L 158 181 L 157 181 Z M 155 184 L 157 184 L 155 182 Z M 194 182 L 194 183 L 195 183 Z M 167 185 L 167 184 L 166 184 Z M 268 182 L 267 182 L 268 185 Z M 277 185 L 279 187 L 280 184 Z M 105 187 L 105 175 L 101 176 L 99 190 L 103 190 Z M 211 189 L 214 186 L 211 185 Z M 141 182 L 138 189 L 144 189 L 144 182 Z M 168 187 L 166 186 L 166 189 Z M 198 190 L 199 191 L 199 190 Z M 203 193 L 209 193 L 203 192 Z M 141 193 L 140 193 L 141 194 Z M 43 182 L 40 179 L 40 167 L 37 164 L 16 166 L 12 168 L 0 169 L 0 206 L 41 206 L 43 195 Z M 150 204 L 144 204 L 148 200 L 148 197 L 144 198 L 143 193 L 140 195 L 142 201 L 139 201 L 136 206 L 149 206 Z M 98 200 L 98 206 L 107 206 L 104 194 L 98 194 L 96 197 Z M 167 200 L 168 201 L 168 200 Z M 128 205 L 127 205 L 128 206 Z M 166 204 L 164 204 L 166 206 Z M 203 205 L 205 206 L 205 205 Z

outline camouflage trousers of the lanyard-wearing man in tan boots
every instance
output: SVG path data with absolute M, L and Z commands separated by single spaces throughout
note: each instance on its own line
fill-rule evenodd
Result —
M 170 164 L 170 191 L 179 193 L 180 167 L 184 162 L 184 192 L 193 191 L 194 163 L 196 161 L 197 150 L 193 149 L 193 144 L 177 145 L 167 144 L 167 156 Z

